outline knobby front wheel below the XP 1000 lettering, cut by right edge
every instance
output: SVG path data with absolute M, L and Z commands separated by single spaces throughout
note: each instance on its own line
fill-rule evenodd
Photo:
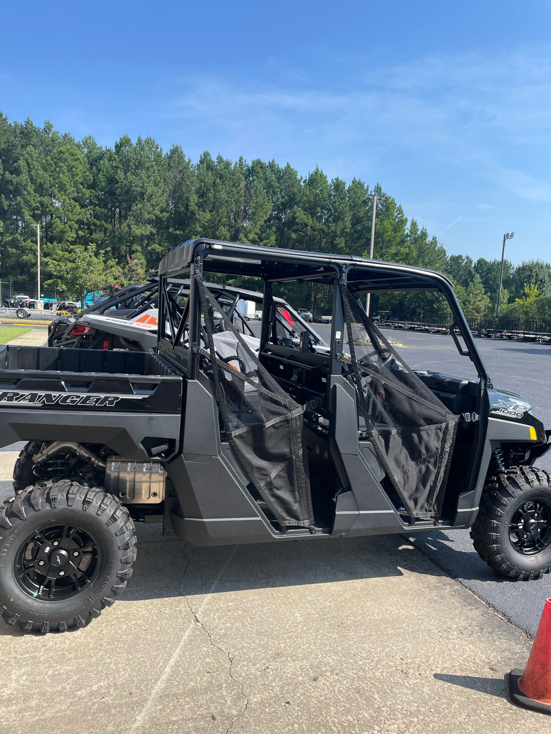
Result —
M 531 581 L 551 570 L 551 477 L 511 468 L 491 477 L 471 537 L 483 561 L 509 578 Z

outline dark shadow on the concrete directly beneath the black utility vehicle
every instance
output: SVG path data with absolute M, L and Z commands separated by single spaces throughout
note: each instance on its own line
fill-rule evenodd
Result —
M 199 548 L 157 533 L 154 540 L 154 531 L 140 528 L 134 573 L 121 601 L 208 593 L 232 553 L 217 592 L 392 578 L 404 571 L 445 575 L 397 535 Z

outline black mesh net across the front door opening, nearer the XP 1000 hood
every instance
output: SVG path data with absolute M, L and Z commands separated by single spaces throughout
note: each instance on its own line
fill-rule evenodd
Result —
M 455 415 L 401 360 L 347 288 L 342 299 L 367 435 L 408 514 L 438 517 Z

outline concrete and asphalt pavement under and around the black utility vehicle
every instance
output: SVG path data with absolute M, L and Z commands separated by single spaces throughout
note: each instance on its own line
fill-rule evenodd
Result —
M 384 333 L 413 368 L 474 376 L 450 338 Z M 551 347 L 476 343 L 494 384 L 522 393 L 550 426 Z M 15 455 L 0 452 L 4 496 Z M 467 531 L 234 548 L 163 539 L 159 526 L 138 536 L 126 592 L 88 627 L 38 636 L 0 621 L 2 731 L 548 725 L 508 701 L 507 674 L 525 665 L 523 631 L 534 633 L 551 579 L 497 577 Z

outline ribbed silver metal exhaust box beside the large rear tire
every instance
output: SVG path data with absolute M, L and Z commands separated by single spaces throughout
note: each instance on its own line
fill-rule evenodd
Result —
M 158 462 L 109 457 L 106 464 L 107 491 L 125 504 L 156 504 L 165 499 L 166 473 Z

